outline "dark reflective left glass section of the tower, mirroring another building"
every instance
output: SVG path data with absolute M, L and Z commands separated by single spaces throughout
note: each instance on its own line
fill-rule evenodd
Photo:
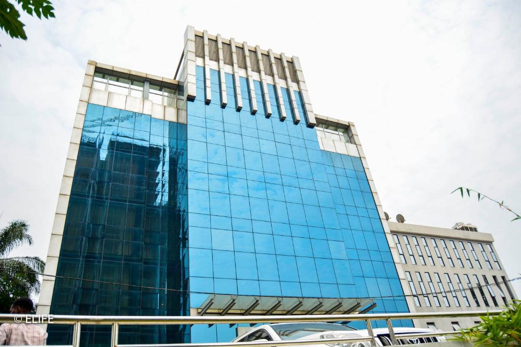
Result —
M 185 124 L 88 105 L 51 314 L 188 314 L 186 162 Z M 119 337 L 182 342 L 186 329 L 122 326 Z M 70 344 L 70 326 L 48 332 Z M 82 345 L 109 341 L 109 327 L 82 327 Z

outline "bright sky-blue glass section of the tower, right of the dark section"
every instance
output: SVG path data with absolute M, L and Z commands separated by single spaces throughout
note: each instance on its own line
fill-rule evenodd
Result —
M 369 297 L 373 312 L 408 312 L 404 298 L 392 298 L 403 291 L 361 159 L 320 150 L 316 130 L 292 122 L 287 89 L 280 121 L 273 85 L 266 118 L 260 82 L 252 115 L 246 79 L 237 112 L 232 75 L 226 108 L 218 71 L 210 77 L 212 102 L 199 66 L 197 97 L 187 102 L 190 306 L 212 292 Z M 195 326 L 192 342 L 226 341 L 233 329 Z

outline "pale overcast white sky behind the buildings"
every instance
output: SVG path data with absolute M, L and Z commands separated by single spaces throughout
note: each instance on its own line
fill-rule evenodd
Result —
M 45 259 L 88 59 L 173 77 L 186 25 L 298 56 L 316 113 L 355 123 L 391 220 L 491 233 L 520 276 L 519 1 L 53 1 L 0 31 L 0 227 L 27 220 Z M 516 153 L 518 153 L 516 155 Z M 513 283 L 521 294 L 521 281 Z

